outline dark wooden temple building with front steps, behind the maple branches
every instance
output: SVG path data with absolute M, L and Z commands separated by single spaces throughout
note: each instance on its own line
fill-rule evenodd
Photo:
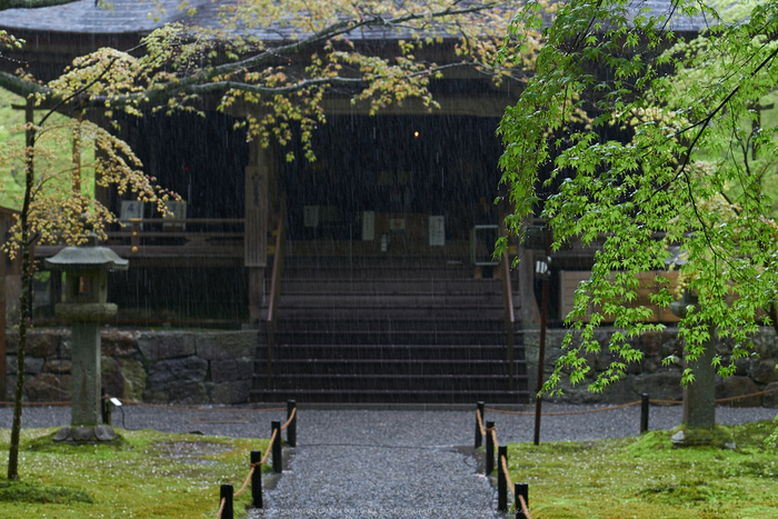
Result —
M 193 23 L 213 23 L 219 2 L 189 3 Z M 140 2 L 112 4 L 3 11 L 0 29 L 28 43 L 0 67 L 24 62 L 51 79 L 78 54 L 132 48 L 184 18 L 170 6 L 154 21 Z M 370 117 L 328 98 L 312 163 L 247 142 L 233 130 L 240 113 L 121 120 L 147 172 L 183 202 L 163 219 L 97 190 L 121 219 L 107 244 L 130 260 L 110 279 L 114 325 L 256 327 L 257 401 L 528 401 L 521 329 L 537 321 L 531 267 L 542 246 L 513 244 L 513 270 L 491 257 L 501 232 L 495 130 L 518 92 L 475 72 L 432 91 L 432 113 L 407 101 Z M 36 258 L 58 250 L 37 247 Z M 552 321 L 591 256 L 555 254 Z

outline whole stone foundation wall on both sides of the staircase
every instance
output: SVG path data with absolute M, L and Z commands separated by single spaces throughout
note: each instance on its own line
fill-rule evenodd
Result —
M 680 400 L 681 362 L 662 366 L 662 359 L 679 356 L 681 345 L 677 331 L 645 333 L 631 340 L 644 352 L 644 360 L 629 365 L 625 380 L 606 391 L 592 393 L 587 385 L 595 373 L 606 370 L 615 356 L 607 352 L 612 329 L 601 329 L 596 339 L 605 350 L 589 355 L 592 367 L 587 381 L 576 387 L 565 381 L 561 397 L 549 401 L 622 403 L 640 399 L 644 392 L 652 399 Z M 565 330 L 549 330 L 546 347 L 546 377 L 560 355 Z M 111 396 L 152 403 L 239 403 L 246 402 L 251 376 L 257 331 L 128 331 L 106 328 L 102 336 L 102 383 Z M 539 331 L 525 331 L 530 388 L 537 383 Z M 778 339 L 772 329 L 762 329 L 754 338 L 756 352 L 738 362 L 737 373 L 718 379 L 717 398 L 749 395 L 778 387 Z M 17 372 L 16 332 L 8 332 L 8 390 L 12 400 Z M 70 399 L 70 330 L 30 330 L 24 366 L 26 398 L 30 401 Z M 727 360 L 728 345 L 718 351 Z M 778 391 L 736 400 L 738 406 L 778 408 Z

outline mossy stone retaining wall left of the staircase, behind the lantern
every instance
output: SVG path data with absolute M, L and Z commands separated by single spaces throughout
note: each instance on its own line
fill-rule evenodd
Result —
M 248 401 L 256 331 L 126 331 L 106 328 L 102 386 L 119 398 L 152 403 Z M 8 332 L 6 400 L 12 400 L 18 333 Z M 30 401 L 70 399 L 70 330 L 30 330 L 24 391 Z

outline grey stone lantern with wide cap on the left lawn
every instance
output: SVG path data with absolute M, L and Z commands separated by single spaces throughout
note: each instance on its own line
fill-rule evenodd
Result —
M 111 441 L 116 433 L 101 423 L 100 323 L 116 316 L 108 301 L 108 271 L 127 270 L 129 261 L 111 249 L 98 247 L 90 236 L 84 246 L 67 247 L 46 260 L 51 270 L 66 273 L 64 301 L 54 307 L 72 327 L 71 427 L 57 432 L 54 441 Z

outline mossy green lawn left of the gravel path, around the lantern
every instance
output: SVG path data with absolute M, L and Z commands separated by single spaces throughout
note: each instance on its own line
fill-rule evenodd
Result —
M 267 440 L 150 430 L 124 431 L 116 445 L 53 443 L 56 429 L 23 429 L 20 481 L 0 477 L 0 517 L 212 518 L 219 486 L 236 490 L 249 452 Z M 8 466 L 9 430 L 0 429 L 0 465 Z M 263 470 L 269 470 L 263 467 Z M 3 470 L 4 472 L 4 470 Z M 247 490 L 236 510 L 250 503 Z

